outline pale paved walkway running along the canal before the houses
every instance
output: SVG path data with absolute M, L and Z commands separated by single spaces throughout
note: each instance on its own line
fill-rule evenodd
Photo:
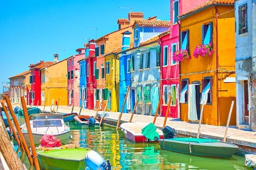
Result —
M 13 105 L 18 106 L 18 105 Z M 44 109 L 44 106 L 38 106 L 42 111 Z M 50 106 L 45 106 L 45 111 L 50 112 Z M 57 109 L 57 106 L 55 106 L 55 109 Z M 59 113 L 71 113 L 72 106 L 58 106 L 58 112 Z M 74 107 L 73 112 L 79 113 L 80 108 Z M 103 111 L 99 111 L 103 112 Z M 95 110 L 88 110 L 82 108 L 81 115 L 91 115 L 94 116 L 96 113 Z M 109 117 L 104 117 L 104 120 L 114 122 L 113 124 L 117 125 L 117 121 L 119 118 L 120 113 L 119 112 L 108 112 Z M 123 113 L 121 117 L 121 123 L 128 122 L 130 120 L 132 114 L 130 113 Z M 163 128 L 165 117 L 157 117 L 155 121 L 155 126 L 158 128 Z M 154 116 L 148 116 L 148 115 L 133 115 L 132 122 L 146 122 L 150 123 L 153 122 Z M 178 134 L 182 135 L 189 135 L 192 137 L 197 137 L 198 134 L 198 124 L 186 122 L 186 121 L 177 121 L 173 118 L 167 118 L 166 126 L 170 126 L 176 130 Z M 202 138 L 208 138 L 208 139 L 218 139 L 220 141 L 223 141 L 225 136 L 226 127 L 224 126 L 212 126 L 207 124 L 202 124 L 200 128 L 200 137 Z M 227 132 L 227 142 L 233 143 L 238 145 L 240 148 L 242 148 L 240 153 L 238 155 L 244 155 L 247 153 L 254 153 L 256 152 L 256 132 L 246 131 L 246 130 L 239 130 L 236 129 L 236 127 L 231 126 L 228 128 Z

